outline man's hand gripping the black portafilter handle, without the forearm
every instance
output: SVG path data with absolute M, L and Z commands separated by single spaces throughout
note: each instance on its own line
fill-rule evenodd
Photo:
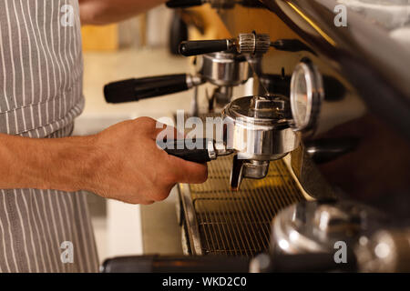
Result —
M 163 128 L 148 117 L 113 125 L 92 138 L 87 190 L 130 204 L 161 201 L 177 183 L 207 180 L 206 165 L 169 156 L 157 146 Z

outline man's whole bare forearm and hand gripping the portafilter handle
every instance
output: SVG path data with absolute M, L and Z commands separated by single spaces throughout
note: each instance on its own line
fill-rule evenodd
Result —
M 207 166 L 169 156 L 148 117 L 97 135 L 27 138 L 0 134 L 0 189 L 87 190 L 131 204 L 169 196 L 177 183 L 202 183 Z

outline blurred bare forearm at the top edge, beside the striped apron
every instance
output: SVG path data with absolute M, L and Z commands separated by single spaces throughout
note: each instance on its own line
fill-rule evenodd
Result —
M 165 3 L 166 0 L 79 0 L 83 25 L 107 25 Z

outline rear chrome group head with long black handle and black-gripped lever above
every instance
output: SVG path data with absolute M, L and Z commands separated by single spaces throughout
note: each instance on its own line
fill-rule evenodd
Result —
M 231 101 L 233 87 L 252 77 L 259 58 L 270 45 L 269 35 L 256 33 L 240 34 L 232 39 L 183 42 L 181 55 L 197 55 L 194 75 L 160 75 L 114 82 L 105 86 L 104 95 L 108 103 L 116 104 L 175 94 L 208 83 L 215 86 L 209 105 L 212 111 L 214 105 L 224 106 Z M 196 95 L 193 115 L 199 110 Z

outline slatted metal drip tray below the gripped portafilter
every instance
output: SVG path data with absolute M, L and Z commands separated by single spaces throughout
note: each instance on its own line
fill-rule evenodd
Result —
M 231 159 L 210 163 L 203 185 L 181 185 L 192 255 L 254 256 L 269 249 L 272 218 L 304 200 L 282 160 L 263 180 L 246 180 L 229 191 Z

